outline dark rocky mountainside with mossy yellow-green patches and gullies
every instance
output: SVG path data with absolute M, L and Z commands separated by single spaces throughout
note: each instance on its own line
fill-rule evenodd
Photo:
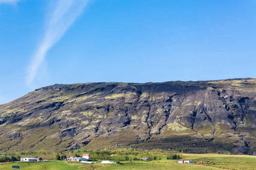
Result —
M 56 84 L 0 105 L 0 152 L 116 143 L 253 154 L 256 79 Z

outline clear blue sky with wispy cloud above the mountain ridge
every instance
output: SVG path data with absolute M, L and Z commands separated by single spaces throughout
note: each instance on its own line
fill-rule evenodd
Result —
M 0 104 L 47 85 L 256 77 L 254 0 L 0 0 Z

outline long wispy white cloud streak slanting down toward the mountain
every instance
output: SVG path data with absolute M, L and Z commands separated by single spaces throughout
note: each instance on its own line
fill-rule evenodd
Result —
M 83 11 L 88 0 L 57 0 L 49 11 L 44 37 L 28 67 L 26 83 L 32 86 L 47 52 L 64 35 Z

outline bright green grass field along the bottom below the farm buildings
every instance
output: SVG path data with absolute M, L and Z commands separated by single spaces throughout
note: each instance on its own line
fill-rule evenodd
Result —
M 206 164 L 174 164 L 177 160 L 133 161 L 122 164 L 84 164 L 70 161 L 12 162 L 0 164 L 0 170 L 13 170 L 12 165 L 20 165 L 20 170 L 256 170 L 256 156 L 183 154 L 183 158 Z

